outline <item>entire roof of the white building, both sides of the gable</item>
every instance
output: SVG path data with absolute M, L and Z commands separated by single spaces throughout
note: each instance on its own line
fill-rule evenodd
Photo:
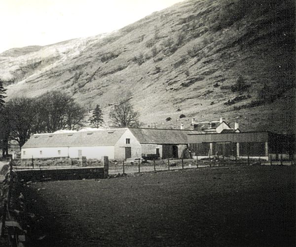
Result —
M 143 144 L 187 144 L 188 133 L 200 133 L 200 131 L 180 129 L 126 127 L 69 133 L 34 134 L 22 148 L 114 146 L 127 129 Z

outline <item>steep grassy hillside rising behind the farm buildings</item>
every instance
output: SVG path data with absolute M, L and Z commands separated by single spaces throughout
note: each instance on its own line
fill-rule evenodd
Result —
M 61 89 L 100 104 L 106 122 L 130 95 L 146 125 L 222 116 L 243 130 L 295 129 L 293 0 L 188 0 L 111 34 L 6 51 L 0 65 L 9 97 Z

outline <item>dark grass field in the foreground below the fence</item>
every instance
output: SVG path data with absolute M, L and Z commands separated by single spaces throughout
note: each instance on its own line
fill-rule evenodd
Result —
M 292 166 L 51 181 L 24 194 L 39 247 L 295 246 Z

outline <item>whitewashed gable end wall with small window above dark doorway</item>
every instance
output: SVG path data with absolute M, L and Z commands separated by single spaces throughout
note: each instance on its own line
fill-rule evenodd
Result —
M 130 139 L 130 144 L 125 143 L 126 138 Z M 141 158 L 142 146 L 129 129 L 126 129 L 114 146 L 114 156 L 116 160 L 125 159 L 125 147 L 131 147 L 132 158 Z

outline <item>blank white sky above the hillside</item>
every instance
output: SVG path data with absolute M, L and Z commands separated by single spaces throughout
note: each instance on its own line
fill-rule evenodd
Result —
M 0 0 L 0 52 L 111 32 L 183 0 Z

